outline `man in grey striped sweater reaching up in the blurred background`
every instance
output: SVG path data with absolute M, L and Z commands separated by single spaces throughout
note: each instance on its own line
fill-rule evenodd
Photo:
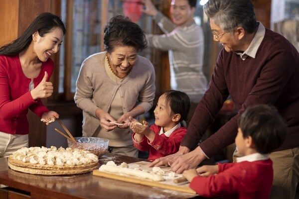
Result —
M 151 15 L 162 35 L 147 35 L 148 46 L 168 51 L 170 65 L 170 86 L 173 90 L 185 92 L 191 106 L 187 116 L 190 121 L 193 112 L 207 88 L 207 79 L 202 72 L 204 35 L 193 20 L 196 0 L 171 0 L 170 21 L 159 12 L 151 0 L 145 0 L 144 13 Z

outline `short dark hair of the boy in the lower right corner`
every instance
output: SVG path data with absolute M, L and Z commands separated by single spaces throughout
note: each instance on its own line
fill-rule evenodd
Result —
M 266 104 L 254 105 L 238 119 L 243 137 L 252 137 L 259 153 L 271 153 L 280 147 L 287 136 L 287 125 L 277 109 Z

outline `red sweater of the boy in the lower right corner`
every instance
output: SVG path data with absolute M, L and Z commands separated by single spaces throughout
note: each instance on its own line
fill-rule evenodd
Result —
M 190 188 L 203 197 L 269 199 L 273 182 L 272 161 L 218 164 L 219 173 L 195 177 Z

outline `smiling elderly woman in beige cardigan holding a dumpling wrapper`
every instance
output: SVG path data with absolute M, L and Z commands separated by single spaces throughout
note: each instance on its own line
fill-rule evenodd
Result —
M 112 153 L 138 156 L 129 116 L 147 112 L 155 94 L 144 31 L 128 17 L 115 16 L 104 28 L 105 50 L 82 63 L 74 100 L 83 110 L 83 136 L 109 139 Z

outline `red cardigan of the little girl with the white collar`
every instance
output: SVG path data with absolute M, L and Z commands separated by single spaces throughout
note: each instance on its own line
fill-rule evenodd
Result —
M 169 137 L 166 137 L 164 134 L 159 135 L 161 126 L 153 124 L 149 128 L 155 133 L 154 140 L 151 143 L 146 136 L 141 142 L 136 142 L 134 139 L 135 133 L 132 134 L 134 146 L 140 151 L 149 151 L 148 160 L 155 160 L 176 153 L 187 132 L 185 127 L 180 127 L 175 129 Z

